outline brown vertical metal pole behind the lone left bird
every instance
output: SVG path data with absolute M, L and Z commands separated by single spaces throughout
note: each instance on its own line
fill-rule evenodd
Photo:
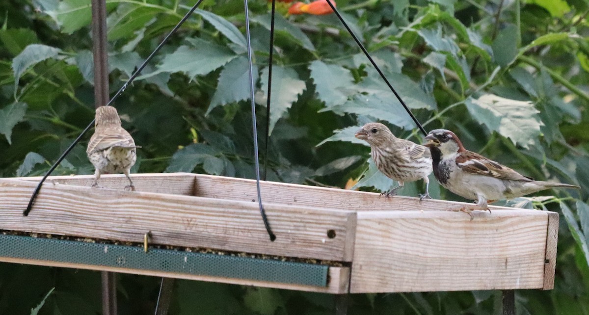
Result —
M 92 0 L 92 46 L 94 49 L 94 106 L 108 103 L 107 8 L 105 0 Z M 102 314 L 117 315 L 115 273 L 101 272 Z

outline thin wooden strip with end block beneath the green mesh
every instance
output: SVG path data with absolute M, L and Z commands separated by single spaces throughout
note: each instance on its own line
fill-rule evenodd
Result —
M 111 272 L 115 272 L 115 273 L 141 274 L 144 276 L 153 276 L 153 277 L 166 277 L 166 278 L 188 279 L 188 280 L 198 280 L 198 281 L 209 281 L 209 282 L 218 282 L 218 283 L 240 284 L 241 286 L 269 287 L 269 288 L 276 288 L 276 289 L 309 291 L 309 292 L 331 293 L 331 294 L 348 293 L 348 283 L 349 283 L 349 274 L 350 274 L 349 267 L 329 267 L 329 278 L 331 279 L 331 281 L 327 284 L 326 287 L 315 287 L 315 286 L 305 286 L 305 285 L 301 285 L 301 284 L 278 283 L 278 282 L 269 282 L 269 281 L 256 281 L 256 280 L 247 280 L 247 279 L 239 279 L 239 278 L 198 276 L 198 275 L 194 275 L 194 274 L 170 273 L 170 272 L 154 271 L 154 270 L 131 269 L 131 268 L 120 268 L 120 267 L 105 267 L 105 266 L 86 265 L 86 264 L 61 263 L 58 261 L 48 261 L 48 260 L 31 260 L 31 259 L 23 259 L 23 258 L 0 257 L 0 261 L 2 261 L 4 263 L 31 264 L 31 265 L 37 265 L 37 266 L 77 268 L 77 269 L 98 270 L 98 271 L 111 271 Z M 347 278 L 346 278 L 346 275 L 348 276 Z

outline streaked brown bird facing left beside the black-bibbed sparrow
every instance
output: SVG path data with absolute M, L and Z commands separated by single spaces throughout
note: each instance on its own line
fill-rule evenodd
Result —
M 425 194 L 421 198 L 429 197 L 429 178 L 432 173 L 432 158 L 428 148 L 409 140 L 399 139 L 391 130 L 379 122 L 369 122 L 356 131 L 356 138 L 370 144 L 370 155 L 378 170 L 399 185 L 386 194 L 395 195 L 406 181 L 425 181 Z

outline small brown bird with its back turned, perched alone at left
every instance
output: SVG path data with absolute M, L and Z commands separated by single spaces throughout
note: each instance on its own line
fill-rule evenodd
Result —
M 124 173 L 129 180 L 125 189 L 135 190 L 129 171 L 137 160 L 137 147 L 133 137 L 121 127 L 121 118 L 117 109 L 112 106 L 101 106 L 96 109 L 94 134 L 88 142 L 86 154 L 94 165 L 94 183 L 98 187 L 101 174 Z

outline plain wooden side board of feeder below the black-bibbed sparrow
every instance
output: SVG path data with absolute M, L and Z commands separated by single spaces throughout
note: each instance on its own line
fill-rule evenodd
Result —
M 542 288 L 547 216 L 358 213 L 350 293 Z

